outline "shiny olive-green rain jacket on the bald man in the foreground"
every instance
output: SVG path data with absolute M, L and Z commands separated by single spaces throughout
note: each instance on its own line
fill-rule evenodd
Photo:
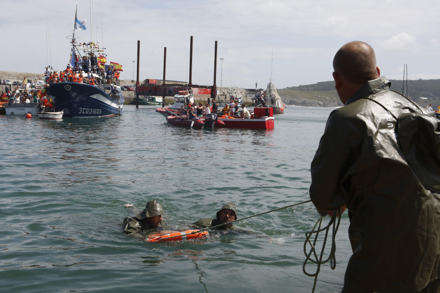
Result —
M 342 293 L 419 292 L 440 277 L 440 185 L 419 179 L 439 182 L 440 127 L 431 133 L 434 153 L 404 155 L 396 120 L 381 105 L 396 117 L 419 110 L 390 84 L 384 77 L 370 81 L 331 112 L 311 163 L 310 198 L 318 211 L 349 210 L 353 254 Z M 402 131 L 405 140 L 414 136 L 411 127 Z M 426 158 L 434 162 L 425 165 Z M 424 169 L 416 175 L 408 160 Z

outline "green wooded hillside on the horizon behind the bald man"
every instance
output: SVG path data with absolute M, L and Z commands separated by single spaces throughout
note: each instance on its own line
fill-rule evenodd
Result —
M 408 85 L 402 80 L 390 80 L 391 89 L 406 94 L 421 106 L 432 104 L 437 107 L 440 104 L 440 79 L 437 80 L 409 80 Z M 317 84 L 299 85 L 277 89 L 278 94 L 286 105 L 342 106 L 338 94 L 334 89 L 334 81 L 320 82 Z

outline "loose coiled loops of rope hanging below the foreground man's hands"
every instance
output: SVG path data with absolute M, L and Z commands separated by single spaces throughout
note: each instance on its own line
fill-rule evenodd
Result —
M 315 226 L 313 226 L 313 229 L 306 232 L 306 241 L 304 242 L 304 254 L 306 255 L 306 260 L 304 261 L 304 264 L 303 264 L 303 272 L 306 275 L 308 275 L 309 277 L 315 277 L 314 282 L 313 282 L 312 293 L 315 292 L 316 282 L 318 280 L 318 274 L 320 272 L 321 265 L 330 261 L 330 268 L 332 270 L 334 270 L 336 268 L 336 256 L 335 256 L 336 241 L 335 241 L 335 238 L 336 238 L 336 233 L 339 228 L 339 224 L 341 222 L 341 213 L 342 213 L 341 210 L 333 211 L 333 214 L 330 218 L 329 224 L 327 226 L 325 226 L 324 228 L 321 228 L 322 220 L 324 217 L 320 217 L 318 219 L 318 221 L 316 221 Z M 336 221 L 336 219 L 337 219 L 337 221 Z M 329 236 L 330 227 L 332 228 L 330 253 L 329 253 L 329 256 L 327 257 L 327 259 L 323 261 L 322 259 L 324 256 L 324 251 L 326 248 L 326 243 L 327 243 L 327 238 Z M 318 257 L 318 254 L 316 252 L 316 242 L 318 240 L 319 233 L 322 231 L 325 231 L 325 236 L 324 236 L 324 241 L 322 244 L 321 253 L 319 254 L 319 257 Z M 314 236 L 314 240 L 312 243 L 312 242 L 310 242 L 310 238 L 313 236 L 313 234 L 315 234 L 315 236 Z M 309 252 L 307 252 L 307 245 L 308 244 L 310 245 Z M 313 254 L 314 258 L 310 257 L 312 254 Z M 309 262 L 317 265 L 316 272 L 309 273 L 306 271 L 306 266 Z

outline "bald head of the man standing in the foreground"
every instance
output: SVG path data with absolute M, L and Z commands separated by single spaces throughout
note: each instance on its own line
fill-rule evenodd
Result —
M 376 55 L 365 42 L 349 42 L 343 45 L 333 59 L 333 69 L 352 84 L 364 84 L 379 77 Z

